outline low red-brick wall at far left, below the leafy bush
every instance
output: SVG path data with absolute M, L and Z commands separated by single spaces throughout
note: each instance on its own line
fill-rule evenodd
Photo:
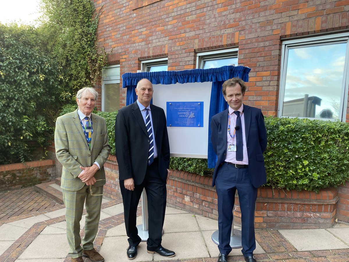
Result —
M 54 180 L 55 161 L 42 160 L 0 166 L 0 190 L 30 187 Z

